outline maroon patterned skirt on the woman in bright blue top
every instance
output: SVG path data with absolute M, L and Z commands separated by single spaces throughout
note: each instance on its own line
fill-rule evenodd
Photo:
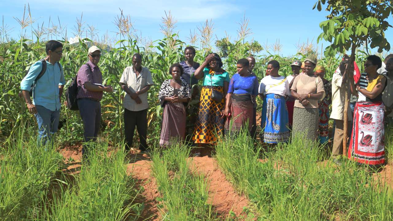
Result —
M 239 134 L 242 128 L 246 128 L 250 133 L 254 118 L 254 104 L 250 94 L 233 94 L 230 106 L 231 117 L 225 122 L 225 134 Z

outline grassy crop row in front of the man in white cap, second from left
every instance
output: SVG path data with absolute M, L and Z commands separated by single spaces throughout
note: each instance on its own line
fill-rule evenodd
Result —
M 138 191 L 127 176 L 124 151 L 108 149 L 108 142 L 90 145 L 89 162 L 76 176 L 76 186 L 54 192 L 53 200 L 35 220 L 138 219 L 143 207 L 133 202 Z

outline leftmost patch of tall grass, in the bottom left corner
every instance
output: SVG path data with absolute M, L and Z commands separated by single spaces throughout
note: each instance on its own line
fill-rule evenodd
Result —
M 50 145 L 38 146 L 23 127 L 0 147 L 0 219 L 18 220 L 34 213 L 32 208 L 48 193 L 61 171 L 62 156 Z

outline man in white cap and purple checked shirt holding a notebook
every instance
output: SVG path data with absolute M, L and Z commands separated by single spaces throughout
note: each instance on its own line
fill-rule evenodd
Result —
M 102 73 L 98 67 L 101 50 L 92 46 L 88 50 L 89 61 L 79 68 L 77 83 L 79 87 L 77 103 L 79 114 L 83 121 L 84 142 L 95 141 L 100 129 L 101 120 L 101 98 L 103 92 L 112 92 L 112 86 L 102 85 Z M 86 159 L 88 148 L 83 145 L 82 156 Z

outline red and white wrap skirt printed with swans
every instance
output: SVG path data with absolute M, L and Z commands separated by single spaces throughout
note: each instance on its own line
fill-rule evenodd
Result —
M 385 164 L 382 102 L 356 102 L 348 158 L 373 166 Z

